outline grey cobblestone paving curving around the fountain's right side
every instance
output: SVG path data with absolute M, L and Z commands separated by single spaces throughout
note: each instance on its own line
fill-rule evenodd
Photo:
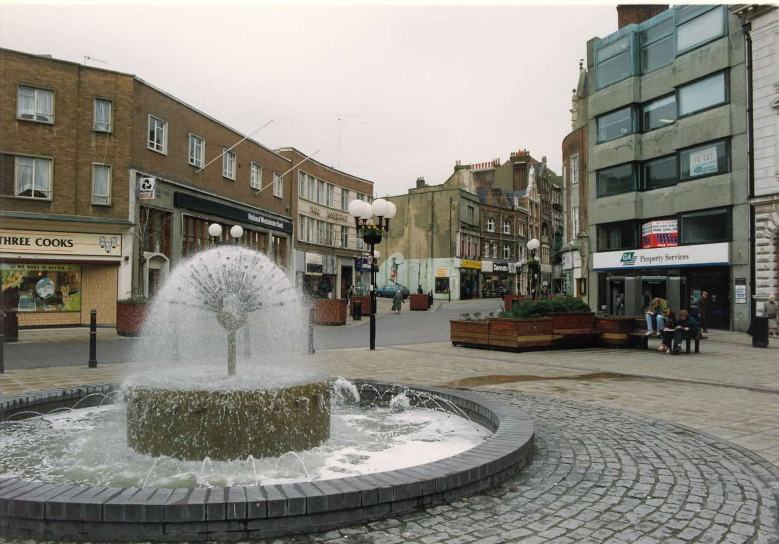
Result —
M 519 475 L 400 518 L 262 542 L 779 542 L 779 472 L 744 450 L 612 408 L 497 395 L 537 425 L 534 461 Z

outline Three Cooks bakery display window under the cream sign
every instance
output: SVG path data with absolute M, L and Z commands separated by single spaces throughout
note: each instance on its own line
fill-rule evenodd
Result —
M 69 264 L 0 263 L 2 309 L 80 312 L 81 267 Z

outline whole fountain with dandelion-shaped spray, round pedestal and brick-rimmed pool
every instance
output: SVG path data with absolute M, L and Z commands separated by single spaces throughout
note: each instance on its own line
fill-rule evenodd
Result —
M 532 458 L 532 421 L 494 398 L 331 384 L 303 364 L 306 323 L 260 253 L 218 246 L 180 264 L 133 354 L 145 368 L 0 397 L 0 539 L 324 531 L 470 496 Z

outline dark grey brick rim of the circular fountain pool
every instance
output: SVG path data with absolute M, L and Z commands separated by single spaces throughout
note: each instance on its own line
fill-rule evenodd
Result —
M 530 461 L 534 426 L 513 406 L 460 390 L 362 383 L 361 401 L 444 408 L 492 432 L 460 454 L 344 478 L 210 488 L 57 485 L 0 475 L 0 536 L 166 541 L 264 539 L 375 521 L 495 486 Z M 104 388 L 108 390 L 108 387 Z M 84 397 L 88 389 L 76 392 Z M 35 410 L 51 396 L 0 401 L 0 419 Z M 72 404 L 72 402 L 71 402 Z M 42 411 L 42 410 L 39 410 Z

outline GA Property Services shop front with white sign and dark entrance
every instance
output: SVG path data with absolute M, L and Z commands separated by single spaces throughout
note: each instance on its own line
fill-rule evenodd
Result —
M 617 299 L 624 294 L 626 316 L 643 316 L 653 298 L 666 299 L 675 313 L 686 309 L 697 315 L 696 301 L 707 291 L 709 327 L 729 330 L 732 313 L 748 307 L 746 278 L 731 278 L 727 242 L 594 253 L 593 259 L 597 308 L 605 313 L 617 315 Z

